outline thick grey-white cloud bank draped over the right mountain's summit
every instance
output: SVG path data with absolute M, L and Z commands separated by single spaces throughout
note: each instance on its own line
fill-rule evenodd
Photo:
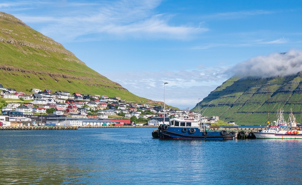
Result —
M 290 50 L 286 53 L 253 57 L 236 64 L 226 72 L 242 77 L 267 78 L 293 75 L 300 71 L 302 71 L 302 51 Z

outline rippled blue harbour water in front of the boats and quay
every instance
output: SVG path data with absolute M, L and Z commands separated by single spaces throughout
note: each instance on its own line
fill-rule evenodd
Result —
M 0 184 L 302 182 L 302 140 L 160 140 L 154 129 L 0 131 Z

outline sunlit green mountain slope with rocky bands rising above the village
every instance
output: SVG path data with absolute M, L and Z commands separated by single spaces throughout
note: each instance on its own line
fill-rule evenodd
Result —
M 3 12 L 0 12 L 0 84 L 28 93 L 31 88 L 39 88 L 151 101 L 88 68 L 62 44 Z

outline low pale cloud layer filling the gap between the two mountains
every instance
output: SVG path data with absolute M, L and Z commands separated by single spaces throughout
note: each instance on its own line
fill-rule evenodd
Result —
M 123 72 L 127 78 L 120 78 L 115 72 L 103 74 L 130 92 L 155 101 L 163 101 L 163 84 L 168 82 L 165 85 L 165 102 L 184 109 L 193 108 L 198 98 L 202 100 L 227 80 L 230 77 L 224 73 L 227 69 L 228 67 L 217 67 L 184 71 Z

